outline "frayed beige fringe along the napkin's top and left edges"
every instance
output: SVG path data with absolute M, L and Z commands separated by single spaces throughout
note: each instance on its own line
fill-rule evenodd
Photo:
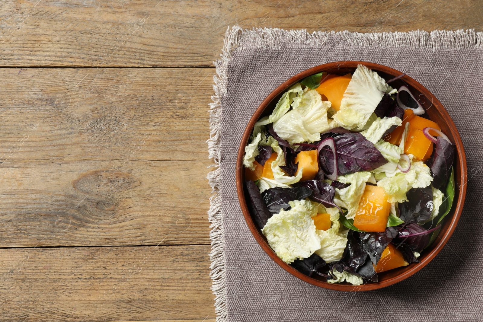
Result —
M 221 101 L 227 93 L 227 68 L 232 53 L 236 49 L 261 47 L 278 49 L 290 45 L 323 45 L 329 38 L 339 38 L 352 46 L 388 46 L 407 47 L 419 49 L 461 49 L 483 48 L 483 32 L 468 30 L 435 30 L 426 32 L 422 30 L 409 32 L 381 32 L 360 33 L 349 31 L 314 31 L 307 30 L 284 30 L 279 28 L 253 28 L 241 29 L 239 26 L 228 27 L 221 59 L 213 62 L 216 67 L 216 75 L 213 76 L 213 103 L 210 103 L 210 139 L 208 143 L 209 158 L 213 159 L 215 169 L 208 174 L 208 182 L 213 189 L 210 198 L 210 210 L 208 211 L 212 251 L 210 252 L 211 273 L 213 280 L 212 291 L 215 295 L 215 312 L 217 322 L 227 321 L 227 294 L 226 294 L 226 270 L 225 270 L 225 239 L 223 237 L 223 216 L 221 209 L 221 153 L 220 153 L 220 130 L 221 130 Z

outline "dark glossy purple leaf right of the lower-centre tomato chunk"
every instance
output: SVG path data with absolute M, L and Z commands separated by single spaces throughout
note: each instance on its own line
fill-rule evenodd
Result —
M 399 203 L 399 218 L 406 224 L 422 223 L 431 218 L 433 191 L 431 187 L 412 188 L 406 193 L 408 201 Z

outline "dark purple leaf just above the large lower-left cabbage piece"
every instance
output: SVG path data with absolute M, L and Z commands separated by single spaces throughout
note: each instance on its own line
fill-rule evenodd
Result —
M 270 188 L 262 193 L 263 201 L 271 213 L 279 213 L 280 210 L 290 207 L 289 201 L 302 200 L 312 194 L 312 190 L 306 187 L 294 188 Z

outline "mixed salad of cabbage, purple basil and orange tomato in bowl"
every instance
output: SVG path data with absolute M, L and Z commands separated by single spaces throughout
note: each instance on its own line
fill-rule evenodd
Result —
M 326 285 L 377 283 L 420 263 L 458 197 L 441 118 L 428 116 L 405 74 L 366 65 L 291 84 L 240 150 L 259 236 L 279 264 Z

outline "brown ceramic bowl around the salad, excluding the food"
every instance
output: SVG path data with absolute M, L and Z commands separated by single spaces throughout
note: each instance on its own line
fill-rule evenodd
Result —
M 323 278 L 318 277 L 309 277 L 300 273 L 298 270 L 293 268 L 292 266 L 284 263 L 270 248 L 267 239 L 261 233 L 260 230 L 256 228 L 250 212 L 248 211 L 247 204 L 246 204 L 246 196 L 243 189 L 243 181 L 244 181 L 244 168 L 243 168 L 243 154 L 244 148 L 248 144 L 248 140 L 250 139 L 250 135 L 253 130 L 253 126 L 255 122 L 262 116 L 270 115 L 275 107 L 276 102 L 280 99 L 282 94 L 292 85 L 300 82 L 303 78 L 318 73 L 320 71 L 327 71 L 331 74 L 339 74 L 344 75 L 348 72 L 353 72 L 358 64 L 362 64 L 367 66 L 371 70 L 375 70 L 379 73 L 381 77 L 383 77 L 386 81 L 394 78 L 402 72 L 398 70 L 394 70 L 384 65 L 368 63 L 363 61 L 343 61 L 343 62 L 334 62 L 328 63 L 324 65 L 319 65 L 313 67 L 309 70 L 302 71 L 301 73 L 295 75 L 294 77 L 290 78 L 280 86 L 278 86 L 270 95 L 263 100 L 260 106 L 256 109 L 255 113 L 253 114 L 250 122 L 246 126 L 245 132 L 240 142 L 240 148 L 238 150 L 238 158 L 237 158 L 237 171 L 236 171 L 236 183 L 237 183 L 237 191 L 238 191 L 238 198 L 240 200 L 241 210 L 243 212 L 243 216 L 245 217 L 246 223 L 250 228 L 253 236 L 255 237 L 256 241 L 262 249 L 282 268 L 284 268 L 290 274 L 298 277 L 300 280 L 304 280 L 308 283 L 313 285 L 317 285 L 320 287 L 324 287 L 327 289 L 338 290 L 338 291 L 369 291 L 380 289 L 392 284 L 395 284 L 401 280 L 407 279 L 412 274 L 416 273 L 418 270 L 426 266 L 444 247 L 448 239 L 453 234 L 455 230 L 456 224 L 458 223 L 458 219 L 461 215 L 461 211 L 463 210 L 463 203 L 465 201 L 466 195 L 466 183 L 467 183 L 467 169 L 466 169 L 466 156 L 465 151 L 463 149 L 463 143 L 461 142 L 461 138 L 458 134 L 458 130 L 456 129 L 455 123 L 451 119 L 450 115 L 444 107 L 441 105 L 440 101 L 434 97 L 423 85 L 419 84 L 415 80 L 413 80 L 409 76 L 404 76 L 397 81 L 391 83 L 392 87 L 399 88 L 401 85 L 406 85 L 411 91 L 414 97 L 421 98 L 420 102 L 422 103 L 423 107 L 426 110 L 427 115 L 429 118 L 438 125 L 440 125 L 441 130 L 445 133 L 448 138 L 455 143 L 456 145 L 456 153 L 455 153 L 455 199 L 453 202 L 453 208 L 450 213 L 446 216 L 444 224 L 441 228 L 440 234 L 436 241 L 424 250 L 421 253 L 421 256 L 418 258 L 421 263 L 413 263 L 409 266 L 395 268 L 386 272 L 379 273 L 379 281 L 378 282 L 368 282 L 362 285 L 352 285 L 347 282 L 343 283 L 327 283 Z

